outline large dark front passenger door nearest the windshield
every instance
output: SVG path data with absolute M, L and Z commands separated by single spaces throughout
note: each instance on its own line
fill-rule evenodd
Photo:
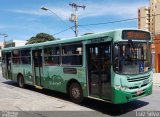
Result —
M 111 42 L 87 45 L 89 94 L 95 98 L 111 98 Z

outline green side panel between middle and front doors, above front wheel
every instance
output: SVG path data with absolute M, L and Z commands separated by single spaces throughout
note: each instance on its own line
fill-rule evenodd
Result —
M 64 69 L 75 69 L 76 73 L 64 73 Z M 69 80 L 77 80 L 84 92 L 86 92 L 86 78 L 84 73 L 84 68 L 71 68 L 71 67 L 60 67 L 60 66 L 44 66 L 43 68 L 43 79 L 42 85 L 51 90 L 56 90 L 60 92 L 67 92 L 67 83 Z M 86 93 L 85 93 L 86 95 Z

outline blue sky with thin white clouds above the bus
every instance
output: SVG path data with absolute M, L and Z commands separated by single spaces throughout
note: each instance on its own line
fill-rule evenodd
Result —
M 86 6 L 84 10 L 78 9 L 78 24 L 81 25 L 78 27 L 78 35 L 83 35 L 137 28 L 137 20 L 103 25 L 88 24 L 137 18 L 138 8 L 148 6 L 149 0 L 0 0 L 0 33 L 8 35 L 6 41 L 28 40 L 42 32 L 61 39 L 74 37 L 74 31 L 68 29 L 74 26 L 74 23 L 69 21 L 73 13 L 69 3 Z M 47 7 L 52 12 L 44 11 L 42 7 Z M 68 30 L 64 31 L 65 29 Z M 2 35 L 0 41 L 3 41 Z

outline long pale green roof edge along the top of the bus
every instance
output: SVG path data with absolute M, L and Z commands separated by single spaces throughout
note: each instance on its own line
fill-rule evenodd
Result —
M 88 35 L 82 35 L 78 37 L 72 37 L 72 38 L 64 38 L 61 40 L 53 40 L 53 41 L 46 41 L 42 43 L 34 43 L 34 44 L 28 44 L 24 46 L 18 46 L 18 47 L 9 47 L 9 48 L 3 48 L 2 50 L 12 50 L 12 49 L 25 49 L 25 48 L 33 48 L 33 47 L 41 47 L 41 46 L 47 46 L 47 45 L 53 45 L 53 44 L 63 44 L 63 43 L 71 43 L 71 42 L 79 42 L 83 40 L 90 40 L 93 38 L 99 38 L 99 37 L 105 37 L 105 36 L 110 36 L 113 37 L 114 33 L 121 33 L 123 30 L 141 30 L 141 29 L 117 29 L 117 30 L 112 30 L 112 31 L 105 31 L 105 32 L 100 32 L 100 33 L 93 33 L 93 34 L 88 34 Z M 141 30 L 145 31 L 145 30 Z M 146 31 L 148 32 L 148 31 Z

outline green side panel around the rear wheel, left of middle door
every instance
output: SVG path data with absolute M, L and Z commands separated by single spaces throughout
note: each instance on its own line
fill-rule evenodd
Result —
M 17 81 L 18 74 L 22 74 L 25 80 L 25 84 L 33 84 L 32 79 L 32 66 L 31 65 L 12 65 L 12 78 Z

